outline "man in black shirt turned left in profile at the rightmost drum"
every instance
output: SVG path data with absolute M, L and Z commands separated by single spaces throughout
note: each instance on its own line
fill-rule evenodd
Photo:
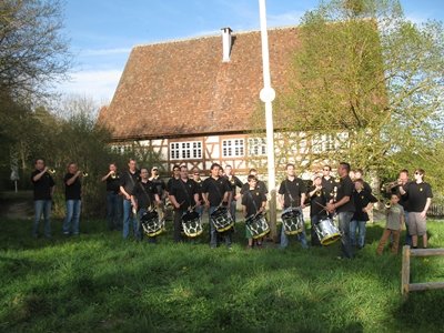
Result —
M 342 258 L 353 259 L 352 246 L 350 244 L 350 221 L 352 221 L 355 206 L 353 201 L 354 184 L 349 175 L 350 170 L 350 164 L 346 162 L 341 162 L 337 167 L 340 183 L 337 186 L 336 201 L 329 202 L 326 208 L 329 212 L 337 213 Z

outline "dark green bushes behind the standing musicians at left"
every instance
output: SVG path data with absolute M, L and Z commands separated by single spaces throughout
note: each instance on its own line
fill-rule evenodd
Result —
M 13 158 L 20 169 L 19 189 L 32 189 L 30 174 L 34 170 L 34 160 L 44 159 L 47 165 L 56 170 L 54 214 L 62 216 L 63 176 L 68 163 L 74 162 L 89 174 L 82 180 L 82 213 L 104 215 L 104 184 L 100 180 L 108 172 L 110 162 L 123 168 L 127 157 L 110 150 L 111 134 L 95 123 L 97 107 L 91 100 L 72 97 L 57 110 L 58 113 L 43 107 L 32 110 L 11 100 L 0 103 L 0 135 L 4 139 L 0 143 L 4 151 L 0 158 L 0 167 L 4 170 L 2 182 L 11 183 Z

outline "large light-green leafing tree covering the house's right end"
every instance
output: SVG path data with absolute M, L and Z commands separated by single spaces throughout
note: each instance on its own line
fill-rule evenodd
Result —
M 307 12 L 292 89 L 276 101 L 276 160 L 297 153 L 304 168 L 346 160 L 393 175 L 428 157 L 433 174 L 444 162 L 428 155 L 443 140 L 443 36 L 441 22 L 407 21 L 396 0 L 332 0 Z

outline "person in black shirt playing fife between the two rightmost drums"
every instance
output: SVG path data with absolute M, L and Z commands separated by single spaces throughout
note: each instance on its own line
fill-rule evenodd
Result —
M 322 176 L 315 175 L 313 185 L 309 189 L 310 198 L 310 221 L 311 221 L 311 244 L 312 246 L 321 246 L 321 241 L 315 231 L 315 225 L 327 218 L 326 202 L 329 194 L 322 186 Z

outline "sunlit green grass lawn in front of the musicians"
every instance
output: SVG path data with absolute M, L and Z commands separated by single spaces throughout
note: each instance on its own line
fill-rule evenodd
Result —
M 211 250 L 208 232 L 152 245 L 104 221 L 81 229 L 34 240 L 30 220 L 0 221 L 0 331 L 444 332 L 444 291 L 401 295 L 401 255 L 375 255 L 379 223 L 353 261 L 336 259 L 337 243 L 246 251 L 243 224 L 232 251 Z M 444 223 L 428 229 L 430 246 L 444 248 Z M 414 258 L 411 271 L 412 282 L 444 281 L 444 258 Z

